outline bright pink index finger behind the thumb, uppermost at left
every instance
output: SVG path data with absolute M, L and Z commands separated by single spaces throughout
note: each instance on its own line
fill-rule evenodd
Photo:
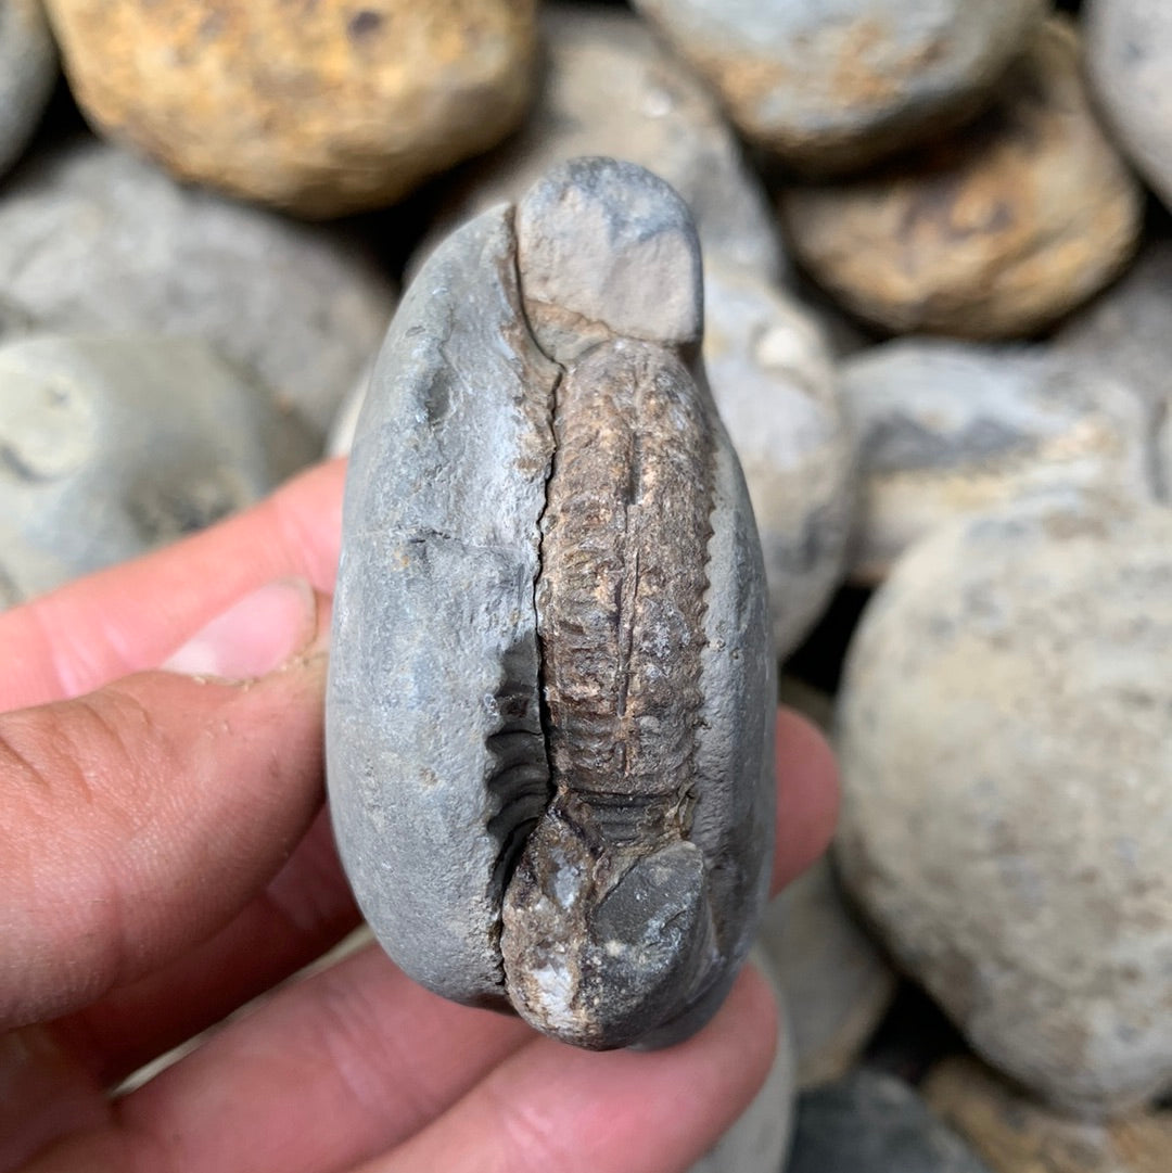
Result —
M 291 575 L 333 592 L 345 462 L 303 473 L 211 529 L 0 615 L 0 710 L 156 667 L 235 599 Z

